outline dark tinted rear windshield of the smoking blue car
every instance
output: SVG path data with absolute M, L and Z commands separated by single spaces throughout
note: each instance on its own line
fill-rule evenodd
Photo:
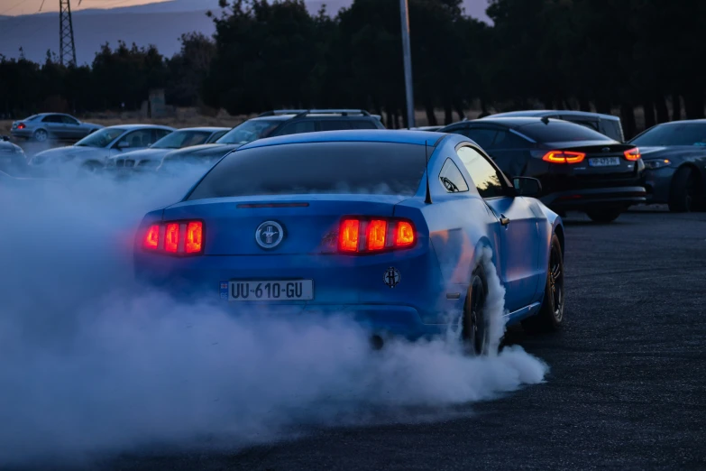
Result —
M 294 143 L 228 154 L 188 199 L 306 193 L 411 196 L 424 174 L 423 145 Z

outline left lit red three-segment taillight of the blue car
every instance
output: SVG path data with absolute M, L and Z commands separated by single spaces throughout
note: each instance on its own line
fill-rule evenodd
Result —
M 197 255 L 204 252 L 204 223 L 170 221 L 153 224 L 142 240 L 142 247 L 159 253 Z

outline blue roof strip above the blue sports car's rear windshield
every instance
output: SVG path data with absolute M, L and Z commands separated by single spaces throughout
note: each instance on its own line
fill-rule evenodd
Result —
M 391 129 L 356 129 L 345 131 L 323 131 L 316 133 L 287 134 L 258 139 L 240 147 L 238 151 L 269 145 L 288 143 L 410 143 L 434 146 L 448 134 L 429 131 L 408 131 Z

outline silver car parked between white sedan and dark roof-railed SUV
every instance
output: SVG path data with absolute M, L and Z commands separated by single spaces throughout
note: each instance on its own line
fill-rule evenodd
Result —
M 108 159 L 106 167 L 120 171 L 156 169 L 161 159 L 175 149 L 215 143 L 229 131 L 227 127 L 189 127 L 167 134 L 147 149 L 124 152 Z

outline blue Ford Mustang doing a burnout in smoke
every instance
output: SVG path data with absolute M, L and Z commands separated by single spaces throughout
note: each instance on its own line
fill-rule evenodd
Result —
M 505 288 L 508 323 L 562 324 L 564 226 L 530 198 L 539 187 L 510 183 L 460 134 L 262 139 L 143 218 L 135 272 L 234 310 L 344 313 L 378 342 L 444 335 L 460 323 L 468 349 L 482 354 L 489 266 Z

